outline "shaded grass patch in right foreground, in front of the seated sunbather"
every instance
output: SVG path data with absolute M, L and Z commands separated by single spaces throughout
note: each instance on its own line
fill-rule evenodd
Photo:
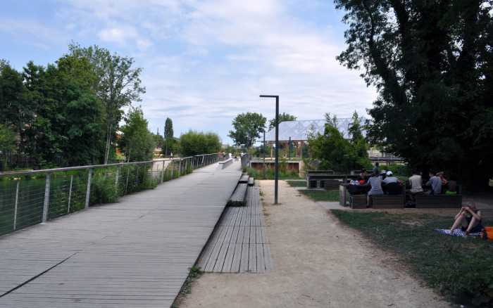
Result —
M 394 252 L 432 288 L 460 304 L 493 307 L 493 243 L 444 236 L 452 217 L 332 210 L 344 224 Z

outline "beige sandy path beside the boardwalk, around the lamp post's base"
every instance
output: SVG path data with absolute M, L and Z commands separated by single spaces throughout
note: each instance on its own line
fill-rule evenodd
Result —
M 339 224 L 326 208 L 280 182 L 261 181 L 274 270 L 204 274 L 180 307 L 450 307 L 392 255 Z

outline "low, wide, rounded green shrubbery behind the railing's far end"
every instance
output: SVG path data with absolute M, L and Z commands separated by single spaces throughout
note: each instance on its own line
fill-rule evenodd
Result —
M 182 156 L 218 153 L 221 149 L 219 136 L 213 133 L 188 131 L 180 136 Z

